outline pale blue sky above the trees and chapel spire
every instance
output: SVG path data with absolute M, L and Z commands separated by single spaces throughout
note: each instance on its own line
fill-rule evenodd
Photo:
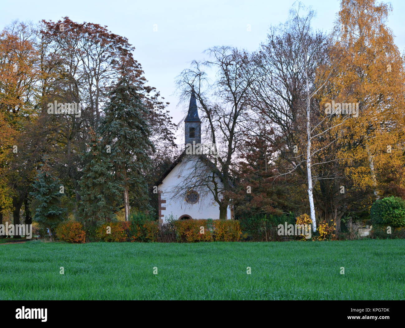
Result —
M 190 67 L 193 59 L 205 59 L 203 51 L 212 46 L 230 45 L 248 51 L 256 50 L 266 39 L 270 25 L 286 21 L 295 0 L 2 0 L 0 27 L 15 19 L 37 22 L 57 21 L 68 16 L 78 22 L 107 25 L 109 30 L 128 38 L 136 47 L 134 58 L 145 71 L 149 85 L 160 90 L 178 123 L 185 105 L 177 107 L 175 77 Z M 387 1 L 385 1 L 387 2 Z M 405 1 L 392 0 L 393 11 L 388 26 L 396 35 L 401 52 L 405 49 Z M 330 30 L 339 0 L 303 0 L 316 12 L 313 25 Z M 158 31 L 153 32 L 157 24 Z M 247 24 L 251 32 L 247 32 Z

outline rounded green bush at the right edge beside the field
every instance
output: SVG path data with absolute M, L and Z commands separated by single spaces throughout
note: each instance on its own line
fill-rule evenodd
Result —
M 401 197 L 385 197 L 373 203 L 370 209 L 373 225 L 405 226 L 405 201 Z

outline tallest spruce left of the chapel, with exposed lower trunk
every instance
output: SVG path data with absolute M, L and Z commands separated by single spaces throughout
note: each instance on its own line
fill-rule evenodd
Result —
M 143 94 L 125 77 L 117 83 L 109 98 L 101 131 L 105 144 L 111 146 L 111 159 L 124 190 L 125 218 L 128 220 L 130 196 L 132 204 L 139 209 L 148 207 L 145 172 L 153 151 L 148 111 Z

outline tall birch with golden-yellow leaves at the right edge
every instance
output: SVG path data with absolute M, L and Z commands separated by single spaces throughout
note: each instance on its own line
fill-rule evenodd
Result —
M 390 11 L 374 0 L 341 1 L 334 47 L 341 61 L 331 78 L 335 97 L 358 106 L 358 116 L 339 127 L 337 156 L 354 185 L 371 188 L 375 199 L 386 174 L 398 177 L 405 164 L 404 61 L 385 25 Z

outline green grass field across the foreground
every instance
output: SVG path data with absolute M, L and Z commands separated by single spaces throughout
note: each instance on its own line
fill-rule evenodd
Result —
M 0 299 L 403 300 L 405 240 L 0 245 Z

